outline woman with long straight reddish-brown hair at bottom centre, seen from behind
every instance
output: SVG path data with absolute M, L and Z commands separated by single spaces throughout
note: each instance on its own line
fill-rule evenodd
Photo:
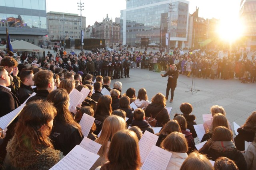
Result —
M 118 131 L 112 137 L 108 162 L 96 170 L 140 170 L 138 137 L 133 131 Z

